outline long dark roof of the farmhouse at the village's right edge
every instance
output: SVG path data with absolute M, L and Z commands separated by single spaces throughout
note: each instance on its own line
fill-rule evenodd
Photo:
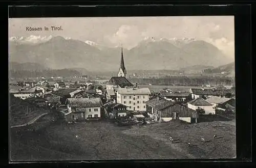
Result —
M 191 89 L 191 91 L 193 94 L 196 94 L 196 95 L 225 96 L 227 93 L 235 95 L 235 92 L 232 89 Z

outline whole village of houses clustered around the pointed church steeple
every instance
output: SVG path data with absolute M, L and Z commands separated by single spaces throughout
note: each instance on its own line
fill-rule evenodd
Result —
M 218 121 L 220 117 L 229 120 L 236 118 L 234 89 L 215 86 L 180 91 L 163 87 L 160 92 L 152 92 L 149 88 L 140 87 L 139 83 L 131 83 L 126 78 L 122 49 L 117 76 L 111 77 L 106 85 L 45 79 L 19 81 L 10 85 L 10 99 L 11 103 L 16 103 L 10 104 L 10 127 L 13 129 L 22 126 L 27 128 L 48 114 L 60 116 L 48 122 L 61 120 L 59 122 L 66 123 L 69 128 L 81 124 L 87 127 L 87 124 L 97 124 L 99 121 L 111 121 L 112 125 L 118 127 L 135 126 L 134 129 L 139 129 L 144 125 L 172 121 L 195 125 L 209 119 Z M 21 109 L 19 105 L 22 102 L 29 105 Z M 15 110 L 22 110 L 22 113 L 17 114 Z M 79 138 L 80 135 L 74 136 Z M 222 135 L 212 133 L 208 136 L 217 138 Z M 206 142 L 205 138 L 204 135 L 197 137 L 201 142 Z M 178 135 L 168 135 L 166 139 L 169 143 L 181 141 Z M 184 143 L 193 146 L 196 144 L 194 141 L 192 139 Z

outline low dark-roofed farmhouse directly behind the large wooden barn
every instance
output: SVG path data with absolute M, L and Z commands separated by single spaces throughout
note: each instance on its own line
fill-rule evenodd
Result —
M 164 88 L 162 91 L 159 92 L 158 96 L 169 101 L 185 101 L 188 99 L 189 93 L 175 92 L 168 88 Z

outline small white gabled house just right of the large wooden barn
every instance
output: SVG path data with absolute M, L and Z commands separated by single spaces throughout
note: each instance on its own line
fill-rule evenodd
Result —
M 198 108 L 205 110 L 205 115 L 215 114 L 214 105 L 199 97 L 195 100 L 191 100 L 187 103 L 187 107 L 193 110 L 197 110 Z

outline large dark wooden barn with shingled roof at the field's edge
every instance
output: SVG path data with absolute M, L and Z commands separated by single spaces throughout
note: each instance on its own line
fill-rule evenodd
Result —
M 159 97 L 146 101 L 146 104 L 148 115 L 155 121 L 168 122 L 176 119 L 188 123 L 197 123 L 197 111 L 186 106 Z

